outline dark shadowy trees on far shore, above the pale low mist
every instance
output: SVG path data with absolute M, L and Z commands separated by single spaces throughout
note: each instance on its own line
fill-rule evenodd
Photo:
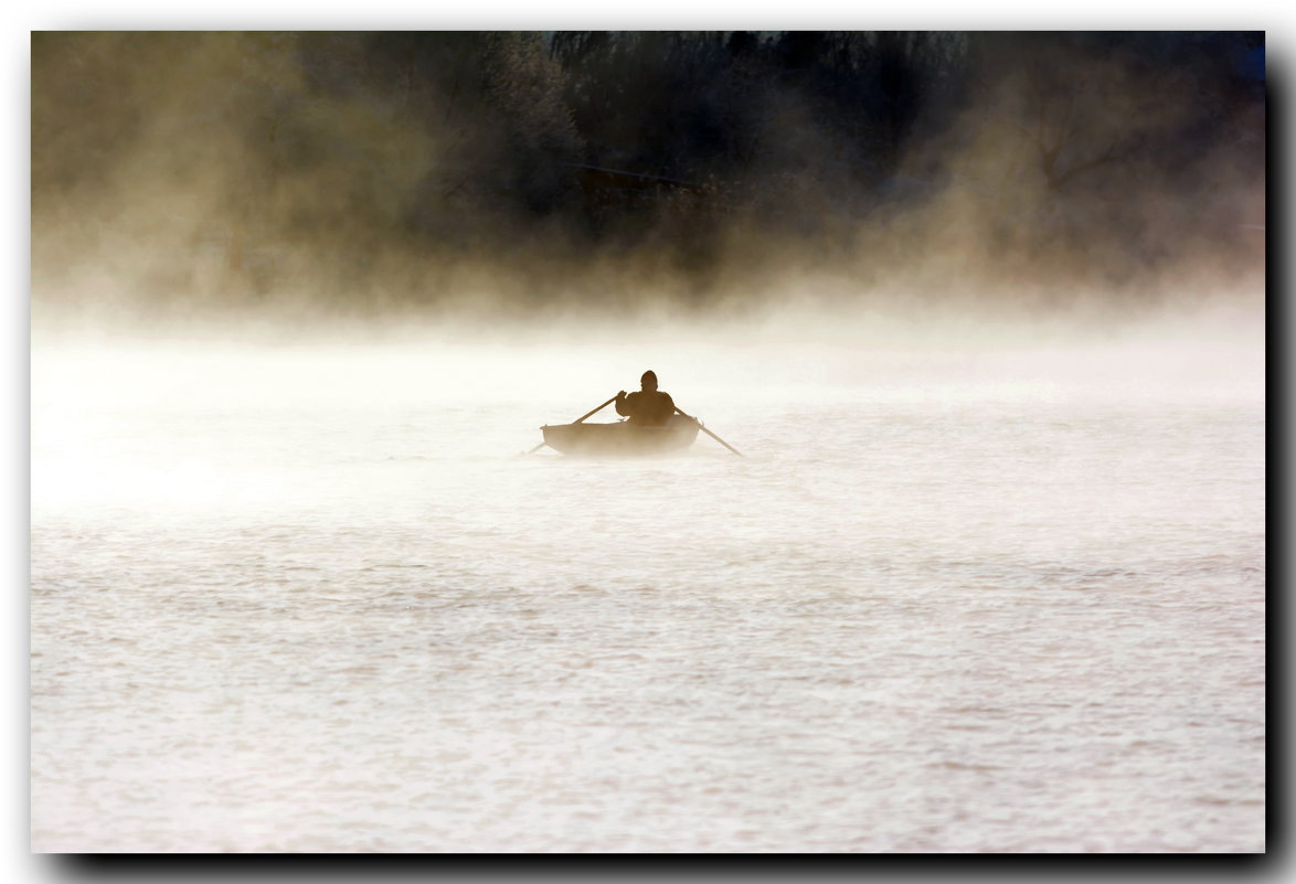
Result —
M 1264 119 L 1249 32 L 45 34 L 34 259 L 153 178 L 353 288 L 635 250 L 705 280 L 735 231 L 1118 272 L 1257 220 Z

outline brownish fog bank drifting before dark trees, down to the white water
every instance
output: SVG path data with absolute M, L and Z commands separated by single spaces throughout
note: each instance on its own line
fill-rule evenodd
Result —
M 1258 290 L 1264 36 L 32 38 L 36 321 Z

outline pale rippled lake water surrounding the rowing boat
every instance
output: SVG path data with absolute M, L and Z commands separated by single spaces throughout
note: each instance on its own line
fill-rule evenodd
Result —
M 35 850 L 1265 846 L 1262 369 L 34 355 Z

